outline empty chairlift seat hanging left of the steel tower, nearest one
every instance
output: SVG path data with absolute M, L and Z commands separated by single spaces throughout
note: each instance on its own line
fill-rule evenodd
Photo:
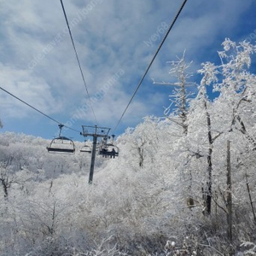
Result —
M 59 125 L 60 127 L 59 137 L 55 137 L 49 144 L 49 147 L 47 147 L 47 150 L 49 153 L 74 154 L 75 146 L 74 146 L 73 140 L 67 137 L 61 136 L 61 129 L 63 126 L 64 125 Z

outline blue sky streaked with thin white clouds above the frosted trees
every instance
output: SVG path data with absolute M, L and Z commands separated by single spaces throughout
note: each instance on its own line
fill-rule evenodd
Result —
M 63 0 L 93 98 L 97 125 L 114 128 L 183 1 Z M 188 1 L 117 134 L 147 115 L 163 115 L 172 80 L 166 61 L 183 55 L 193 70 L 218 61 L 224 38 L 256 40 L 254 0 Z M 75 130 L 96 125 L 60 1 L 0 1 L 0 86 Z M 253 65 L 255 64 L 255 60 Z M 255 71 L 255 67 L 253 67 Z M 57 124 L 0 91 L 4 131 L 51 138 Z M 65 136 L 83 140 L 79 132 Z

